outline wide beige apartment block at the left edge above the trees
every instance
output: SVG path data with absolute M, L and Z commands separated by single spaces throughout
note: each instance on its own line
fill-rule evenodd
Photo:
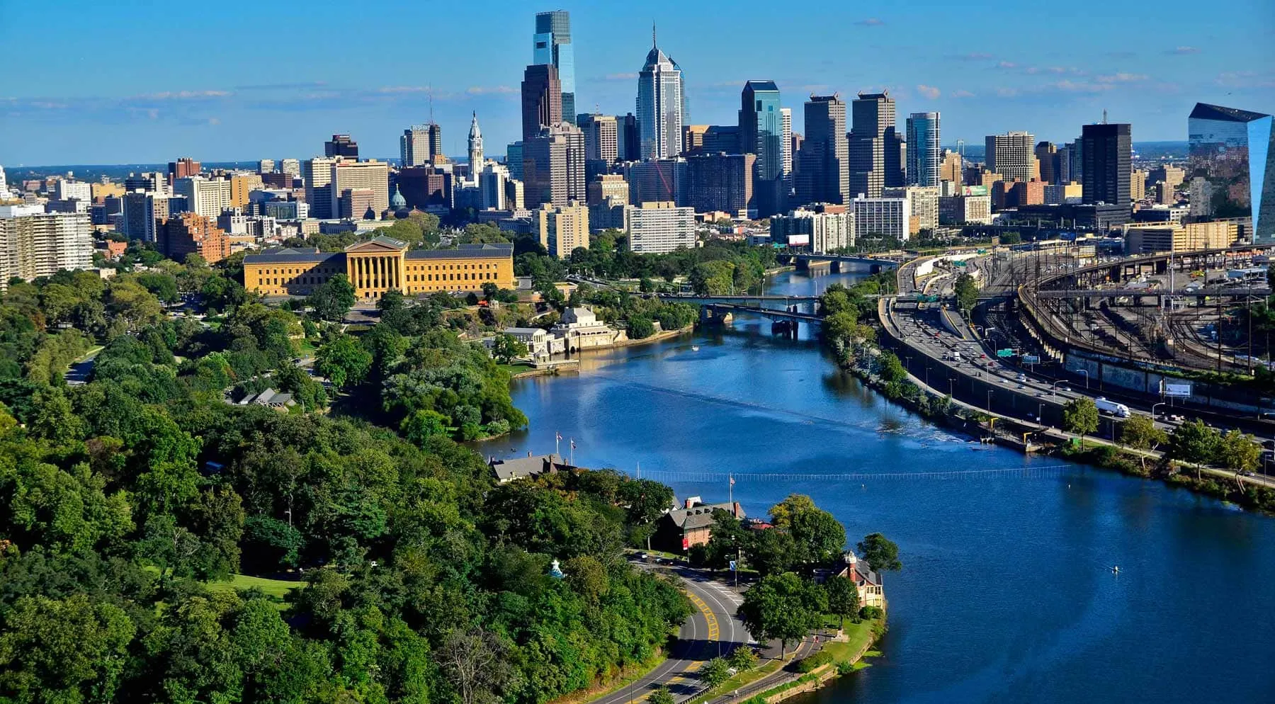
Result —
M 31 213 L 0 218 L 0 291 L 10 278 L 32 281 L 93 265 L 88 213 Z

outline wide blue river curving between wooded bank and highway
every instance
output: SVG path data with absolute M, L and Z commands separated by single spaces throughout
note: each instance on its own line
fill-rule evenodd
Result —
M 770 292 L 852 279 L 785 273 Z M 579 375 L 513 393 L 530 429 L 479 451 L 552 451 L 561 432 L 583 467 L 640 464 L 710 501 L 733 472 L 750 515 L 808 494 L 852 543 L 875 531 L 899 543 L 882 656 L 794 701 L 1275 700 L 1270 517 L 975 450 L 839 372 L 805 329 L 778 339 L 764 320 L 586 355 Z M 1007 472 L 979 472 L 994 469 Z

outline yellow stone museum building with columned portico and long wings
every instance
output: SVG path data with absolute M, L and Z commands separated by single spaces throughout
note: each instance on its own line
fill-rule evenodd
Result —
M 337 274 L 349 278 L 358 298 L 379 298 L 391 288 L 414 296 L 482 291 L 484 283 L 516 286 L 514 245 L 408 250 L 405 242 L 372 237 L 346 251 L 282 247 L 244 258 L 244 287 L 265 296 L 309 296 Z

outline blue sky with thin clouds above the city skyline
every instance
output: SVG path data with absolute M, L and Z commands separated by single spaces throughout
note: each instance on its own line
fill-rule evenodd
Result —
M 431 91 L 448 153 L 464 153 L 470 111 L 487 153 L 504 153 L 520 129 L 534 11 L 558 9 L 108 5 L 0 0 L 0 165 L 305 158 L 338 131 L 365 156 L 390 157 L 403 128 L 427 121 Z M 752 78 L 778 82 L 798 131 L 811 92 L 889 88 L 900 129 L 908 112 L 938 110 L 945 143 L 1011 129 L 1066 142 L 1103 108 L 1132 122 L 1135 142 L 1181 140 L 1196 101 L 1275 111 L 1275 0 L 880 5 L 564 5 L 576 105 L 632 111 L 655 20 L 686 71 L 695 124 L 734 124 Z

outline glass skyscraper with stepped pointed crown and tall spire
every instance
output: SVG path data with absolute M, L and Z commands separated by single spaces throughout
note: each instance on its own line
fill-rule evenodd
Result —
M 640 158 L 663 159 L 681 154 L 685 124 L 682 69 L 659 50 L 652 31 L 652 47 L 638 73 Z

